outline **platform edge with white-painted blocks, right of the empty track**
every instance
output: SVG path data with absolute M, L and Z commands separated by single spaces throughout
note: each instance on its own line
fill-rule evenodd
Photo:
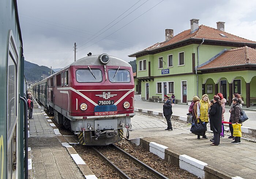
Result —
M 177 151 L 171 151 L 170 148 L 150 142 L 147 138 L 128 139 L 130 142 L 142 146 L 145 150 L 158 155 L 167 162 L 184 169 L 202 179 L 243 179 L 240 176 L 234 176 L 226 172 L 219 172 L 213 166 L 209 166 L 200 160 Z M 164 152 L 163 152 L 164 151 Z

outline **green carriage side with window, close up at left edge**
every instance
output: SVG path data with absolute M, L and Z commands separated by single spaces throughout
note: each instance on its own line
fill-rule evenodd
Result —
M 1 0 L 0 177 L 3 179 L 24 178 L 27 169 L 24 164 L 27 149 L 23 143 L 24 57 L 17 9 L 16 0 Z

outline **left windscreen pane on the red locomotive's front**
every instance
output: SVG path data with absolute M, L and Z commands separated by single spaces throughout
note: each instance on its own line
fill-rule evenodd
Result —
M 76 81 L 82 83 L 101 82 L 102 72 L 100 69 L 78 69 L 76 71 Z

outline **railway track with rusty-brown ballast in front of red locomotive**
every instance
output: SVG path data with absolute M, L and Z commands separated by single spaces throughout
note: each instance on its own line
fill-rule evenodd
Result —
M 153 178 L 168 179 L 166 176 L 162 175 L 161 173 L 154 170 L 147 164 L 136 159 L 131 154 L 125 152 L 121 148 L 113 144 L 110 145 L 109 147 L 113 148 L 113 150 L 100 152 L 95 147 L 91 147 L 91 148 L 94 150 L 95 154 L 97 154 L 100 158 L 102 158 L 110 168 L 115 170 L 116 173 L 122 179 L 141 178 L 142 176 L 146 176 L 146 178 L 152 178 L 152 179 Z

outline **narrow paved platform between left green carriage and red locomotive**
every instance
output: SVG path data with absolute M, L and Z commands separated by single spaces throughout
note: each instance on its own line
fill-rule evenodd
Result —
M 33 99 L 33 119 L 29 119 L 30 179 L 95 179 L 83 159 L 70 146 L 52 120 Z

